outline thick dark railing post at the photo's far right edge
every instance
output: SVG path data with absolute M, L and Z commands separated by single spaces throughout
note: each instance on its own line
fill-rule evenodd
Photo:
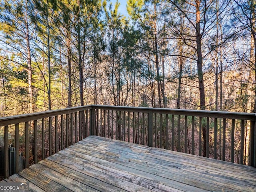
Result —
M 251 121 L 250 127 L 250 159 L 249 165 L 256 167 L 256 123 Z

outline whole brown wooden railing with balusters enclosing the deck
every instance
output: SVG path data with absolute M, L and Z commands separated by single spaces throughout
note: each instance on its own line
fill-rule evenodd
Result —
M 100 105 L 4 117 L 4 177 L 10 134 L 15 134 L 16 172 L 20 152 L 28 167 L 89 135 L 256 167 L 255 118 L 254 113 Z

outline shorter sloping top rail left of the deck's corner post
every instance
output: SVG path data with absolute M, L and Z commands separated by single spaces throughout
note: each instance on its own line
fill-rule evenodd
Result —
M 48 118 L 53 117 L 56 115 L 62 115 L 62 114 L 68 114 L 72 112 L 78 112 L 83 110 L 91 109 L 91 105 L 87 106 L 78 106 L 78 107 L 71 107 L 71 108 L 65 108 L 65 109 L 57 109 L 57 110 L 51 110 L 51 111 L 44 111 L 44 112 L 36 112 L 31 114 L 22 114 L 22 115 L 14 115 L 9 117 L 2 117 L 0 118 L 0 126 L 6 126 L 10 124 L 16 124 L 21 122 L 27 122 L 42 118 Z

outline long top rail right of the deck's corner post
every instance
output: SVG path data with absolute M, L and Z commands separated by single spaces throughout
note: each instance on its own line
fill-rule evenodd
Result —
M 244 113 L 244 112 L 186 110 L 186 109 L 170 109 L 170 108 L 147 108 L 147 107 L 128 107 L 128 106 L 106 106 L 106 105 L 92 105 L 92 108 L 104 109 L 104 110 L 144 112 L 144 113 L 153 112 L 153 113 L 162 113 L 162 114 L 241 119 L 241 120 L 256 119 L 256 113 Z

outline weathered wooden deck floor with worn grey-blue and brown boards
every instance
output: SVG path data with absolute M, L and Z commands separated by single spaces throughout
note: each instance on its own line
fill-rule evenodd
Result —
M 6 178 L 31 191 L 256 191 L 256 168 L 90 136 Z

